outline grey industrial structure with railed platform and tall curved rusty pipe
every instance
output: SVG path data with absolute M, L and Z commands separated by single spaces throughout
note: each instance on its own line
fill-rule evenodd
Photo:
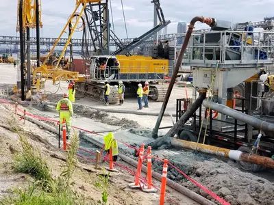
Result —
M 192 33 L 196 21 L 207 23 L 211 30 L 202 34 Z M 273 112 L 269 109 L 274 99 L 262 97 L 258 90 L 258 75 L 255 79 L 252 78 L 260 68 L 266 69 L 274 65 L 274 45 L 270 43 L 273 35 L 271 31 L 253 31 L 250 25 L 245 26 L 245 31 L 240 31 L 238 24 L 225 20 L 193 18 L 152 137 L 158 138 L 160 122 L 183 61 L 183 65 L 192 67 L 194 102 L 191 104 L 190 99 L 186 98 L 177 99 L 177 122 L 166 136 L 177 135 L 179 139 L 197 143 L 217 141 L 219 146 L 221 140 L 242 152 L 263 156 L 274 154 L 274 118 L 271 116 Z M 255 36 L 258 36 L 259 41 L 254 40 Z M 264 37 L 264 44 L 260 43 L 261 36 Z M 186 58 L 183 59 L 185 52 Z M 242 81 L 246 81 L 246 97 L 240 97 L 242 106 L 238 109 L 235 105 L 234 98 L 237 97 L 234 95 L 233 87 Z M 208 91 L 209 95 L 206 98 Z M 257 99 L 262 100 L 262 112 L 255 111 Z M 203 109 L 203 106 L 206 109 Z M 186 124 L 189 119 L 191 124 Z M 166 138 L 162 140 L 166 142 Z M 161 139 L 158 139 L 157 143 L 159 141 Z M 179 143 L 178 146 L 184 147 L 182 144 Z M 243 169 L 253 172 L 263 168 L 246 163 L 240 165 Z

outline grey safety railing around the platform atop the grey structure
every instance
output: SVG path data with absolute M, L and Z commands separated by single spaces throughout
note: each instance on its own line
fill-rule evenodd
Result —
M 184 65 L 274 64 L 274 32 L 207 31 L 193 33 Z M 261 39 L 263 43 L 259 43 Z M 258 40 L 254 40 L 258 39 Z M 178 51 L 178 50 L 177 50 Z

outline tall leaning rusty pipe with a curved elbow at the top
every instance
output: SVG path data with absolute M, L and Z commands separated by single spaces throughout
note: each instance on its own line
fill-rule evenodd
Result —
M 158 119 L 157 119 L 157 122 L 155 124 L 155 127 L 153 128 L 153 132 L 151 133 L 151 137 L 153 137 L 154 139 L 158 138 L 158 130 L 159 130 L 160 124 L 162 122 L 162 117 L 164 115 L 164 111 L 166 110 L 167 102 L 169 102 L 169 97 L 171 96 L 171 91 L 173 89 L 175 79 L 176 79 L 177 74 L 179 72 L 179 67 L 182 64 L 182 60 L 183 60 L 183 57 L 184 57 L 184 52 L 186 51 L 186 47 L 188 46 L 188 41 L 190 39 L 190 36 L 191 36 L 192 31 L 193 31 L 194 25 L 197 21 L 200 21 L 201 23 L 206 23 L 210 27 L 214 27 L 216 25 L 215 18 L 203 18 L 203 16 L 196 16 L 196 17 L 192 18 L 192 20 L 190 21 L 190 25 L 188 26 L 188 31 L 187 31 L 186 37 L 184 39 L 184 44 L 182 45 L 182 49 L 181 49 L 181 51 L 179 53 L 179 56 L 177 58 L 176 66 L 173 70 L 173 75 L 171 77 L 171 81 L 169 83 L 169 87 L 168 87 L 168 90 L 166 92 L 166 96 L 164 96 L 164 102 L 162 104 L 160 114 L 158 115 Z

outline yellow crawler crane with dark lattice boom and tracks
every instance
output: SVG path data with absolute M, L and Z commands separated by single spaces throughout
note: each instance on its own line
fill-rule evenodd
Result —
M 151 57 L 132 55 L 131 51 L 145 40 L 158 33 L 161 29 L 171 23 L 165 20 L 159 0 L 153 0 L 160 23 L 135 38 L 133 42 L 125 45 L 110 29 L 110 18 L 108 15 L 109 1 L 97 1 L 88 3 L 84 10 L 86 18 L 86 29 L 83 41 L 86 42 L 90 36 L 93 47 L 83 46 L 83 58 L 89 68 L 89 77 L 86 81 L 76 83 L 77 92 L 90 96 L 95 100 L 103 101 L 105 81 L 110 83 L 110 104 L 116 104 L 118 100 L 119 81 L 123 81 L 126 92 L 125 96 L 136 96 L 138 83 L 150 82 L 149 98 L 155 101 L 163 101 L 167 87 L 160 85 L 164 77 L 173 70 L 174 48 L 168 45 L 153 46 Z M 116 42 L 116 51 L 110 52 L 110 39 Z M 119 68 L 114 62 L 119 62 Z M 100 70 L 104 63 L 105 68 Z

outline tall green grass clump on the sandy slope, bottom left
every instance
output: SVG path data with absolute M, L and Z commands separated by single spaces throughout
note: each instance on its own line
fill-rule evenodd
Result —
M 14 170 L 34 177 L 34 182 L 27 189 L 14 189 L 12 196 L 5 197 L 0 204 L 14 205 L 85 205 L 83 195 L 73 191 L 71 187 L 73 172 L 77 163 L 76 153 L 79 139 L 76 133 L 71 137 L 71 146 L 68 146 L 66 166 L 60 176 L 53 179 L 51 170 L 45 159 L 42 159 L 40 150 L 27 141 L 23 133 L 18 132 L 23 151 L 16 154 Z M 94 205 L 94 204 L 92 204 Z

